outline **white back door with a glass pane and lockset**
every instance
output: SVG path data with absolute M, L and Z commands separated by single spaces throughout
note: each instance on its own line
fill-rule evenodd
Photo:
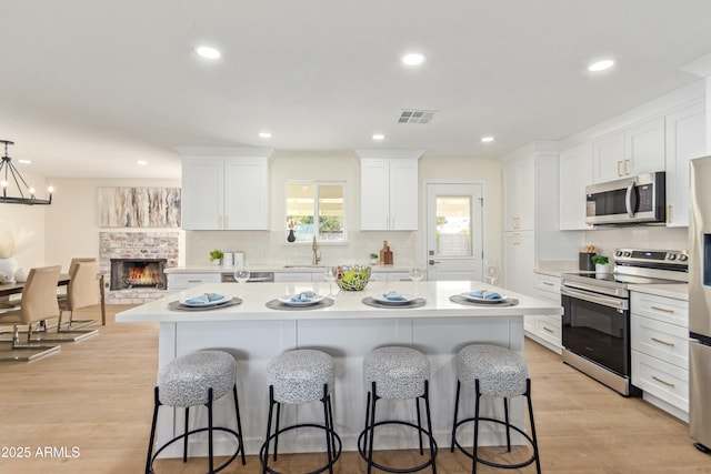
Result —
M 481 280 L 482 185 L 427 184 L 428 280 Z

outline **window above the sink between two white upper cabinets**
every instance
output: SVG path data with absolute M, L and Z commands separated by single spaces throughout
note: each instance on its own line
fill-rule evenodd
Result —
M 293 230 L 296 242 L 346 241 L 346 185 L 341 182 L 288 181 L 287 232 Z

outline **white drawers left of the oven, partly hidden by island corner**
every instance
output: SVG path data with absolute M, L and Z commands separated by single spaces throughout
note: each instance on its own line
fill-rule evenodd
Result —
M 560 278 L 535 274 L 535 297 L 560 304 Z M 553 352 L 562 352 L 560 315 L 523 316 L 525 335 Z

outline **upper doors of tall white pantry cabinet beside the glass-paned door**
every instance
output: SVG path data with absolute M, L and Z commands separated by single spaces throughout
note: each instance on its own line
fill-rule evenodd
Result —
M 508 163 L 503 169 L 507 231 L 535 228 L 535 157 Z

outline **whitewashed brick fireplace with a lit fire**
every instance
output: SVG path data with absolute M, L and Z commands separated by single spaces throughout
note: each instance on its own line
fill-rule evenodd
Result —
M 178 232 L 100 232 L 99 270 L 110 304 L 141 304 L 166 295 L 164 269 L 178 265 Z

